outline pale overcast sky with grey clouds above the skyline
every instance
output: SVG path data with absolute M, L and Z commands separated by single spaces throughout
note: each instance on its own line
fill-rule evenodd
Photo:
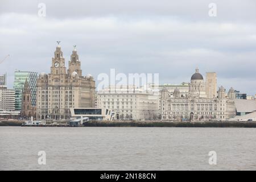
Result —
M 46 5 L 45 15 L 40 3 Z M 209 16 L 209 4 L 217 16 Z M 159 73 L 160 84 L 189 82 L 195 69 L 217 73 L 217 85 L 256 93 L 256 1 L 0 1 L 0 75 L 50 72 L 61 41 L 73 45 L 83 75 Z

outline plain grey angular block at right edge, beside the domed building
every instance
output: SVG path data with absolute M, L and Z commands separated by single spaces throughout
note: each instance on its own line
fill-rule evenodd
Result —
M 245 99 L 234 99 L 235 106 L 238 113 L 249 113 L 256 111 L 256 101 L 255 100 L 245 100 Z

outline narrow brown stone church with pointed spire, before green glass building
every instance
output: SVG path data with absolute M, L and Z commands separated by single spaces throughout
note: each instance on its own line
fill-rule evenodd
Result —
M 36 106 L 32 105 L 32 94 L 27 79 L 22 90 L 22 109 L 20 115 L 26 118 L 30 118 L 31 116 L 36 118 Z

